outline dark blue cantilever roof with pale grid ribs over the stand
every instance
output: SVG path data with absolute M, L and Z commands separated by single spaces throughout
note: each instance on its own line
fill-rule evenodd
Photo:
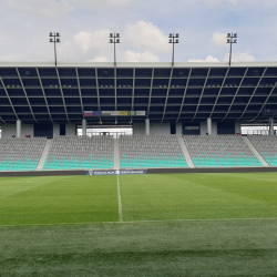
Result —
M 0 122 L 80 123 L 84 111 L 145 111 L 151 122 L 264 122 L 277 62 L 0 63 Z M 117 117 L 119 123 L 145 116 Z M 89 120 L 91 123 L 99 117 Z M 114 123 L 114 117 L 102 117 Z

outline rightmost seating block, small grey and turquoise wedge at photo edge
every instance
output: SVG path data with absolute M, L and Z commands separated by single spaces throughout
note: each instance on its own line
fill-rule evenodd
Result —
M 270 166 L 277 166 L 276 135 L 248 135 L 247 137 Z

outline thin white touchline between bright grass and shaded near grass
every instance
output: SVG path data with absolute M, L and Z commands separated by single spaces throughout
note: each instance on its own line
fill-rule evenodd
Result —
M 174 223 L 174 222 L 235 222 L 235 220 L 247 220 L 247 222 L 265 222 L 265 220 L 277 220 L 277 217 L 271 218 L 215 218 L 215 219 L 165 219 L 165 220 L 130 220 L 130 222 L 90 222 L 90 223 L 42 223 L 42 224 L 17 224 L 17 225 L 0 225 L 1 227 L 22 227 L 22 226 L 59 226 L 59 225 L 99 225 L 99 224 L 134 224 L 134 223 Z

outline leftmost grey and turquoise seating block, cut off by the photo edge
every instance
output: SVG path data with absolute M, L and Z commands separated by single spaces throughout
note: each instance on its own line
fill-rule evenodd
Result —
M 1 138 L 0 171 L 34 171 L 47 137 Z

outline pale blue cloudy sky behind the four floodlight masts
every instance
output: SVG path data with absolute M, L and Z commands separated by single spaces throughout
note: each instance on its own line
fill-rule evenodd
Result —
M 58 62 L 277 60 L 276 0 L 0 0 L 0 62 L 54 61 L 49 32 L 60 32 Z

